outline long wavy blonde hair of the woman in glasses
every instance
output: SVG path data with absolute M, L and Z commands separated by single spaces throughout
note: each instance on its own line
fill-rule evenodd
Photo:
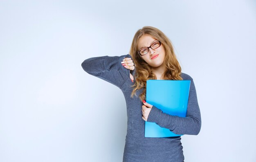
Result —
M 181 67 L 173 51 L 173 45 L 171 43 L 171 40 L 168 39 L 168 37 L 159 29 L 152 26 L 144 26 L 135 33 L 130 48 L 130 55 L 136 68 L 136 71 L 134 73 L 135 84 L 131 86 L 133 88 L 131 97 L 133 98 L 134 95 L 137 96 L 136 91 L 144 88 L 142 93 L 139 95 L 139 99 L 141 101 L 146 101 L 146 81 L 149 79 L 157 79 L 156 75 L 153 74 L 151 70 L 151 66 L 148 65 L 148 63 L 146 63 L 146 61 L 144 61 L 137 53 L 137 51 L 139 50 L 137 42 L 141 36 L 146 34 L 159 40 L 161 42 L 161 46 L 164 47 L 166 53 L 163 62 L 166 67 L 166 70 L 164 72 L 164 80 L 183 80 L 181 77 Z

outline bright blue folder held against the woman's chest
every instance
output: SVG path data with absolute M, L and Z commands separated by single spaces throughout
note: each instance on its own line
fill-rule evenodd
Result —
M 190 80 L 147 80 L 146 102 L 164 113 L 186 117 Z M 145 121 L 145 137 L 174 137 L 170 129 Z

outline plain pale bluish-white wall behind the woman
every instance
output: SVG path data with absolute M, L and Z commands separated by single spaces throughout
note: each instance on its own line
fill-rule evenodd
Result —
M 256 161 L 255 0 L 2 0 L 0 24 L 0 162 L 121 162 L 124 95 L 81 63 L 128 54 L 143 26 L 195 82 L 185 161 Z

